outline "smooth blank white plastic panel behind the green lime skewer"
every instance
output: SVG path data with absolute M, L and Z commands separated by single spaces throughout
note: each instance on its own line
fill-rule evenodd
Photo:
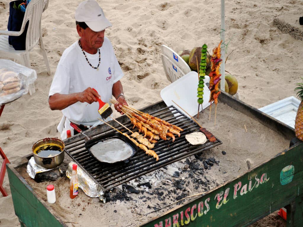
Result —
M 204 83 L 209 82 L 209 77 L 205 76 Z M 197 98 L 197 87 L 198 87 L 198 73 L 189 72 L 183 77 L 179 78 L 175 82 L 169 84 L 163 88 L 160 92 L 161 98 L 167 106 L 173 105 L 186 116 L 188 116 L 183 110 L 176 106 L 171 100 L 174 100 L 179 106 L 185 109 L 191 116 L 198 113 L 198 98 Z M 208 102 L 210 96 L 210 90 L 205 85 L 203 94 L 202 107 L 205 109 L 210 105 Z M 202 111 L 200 106 L 200 112 Z M 188 116 L 190 117 L 190 116 Z

